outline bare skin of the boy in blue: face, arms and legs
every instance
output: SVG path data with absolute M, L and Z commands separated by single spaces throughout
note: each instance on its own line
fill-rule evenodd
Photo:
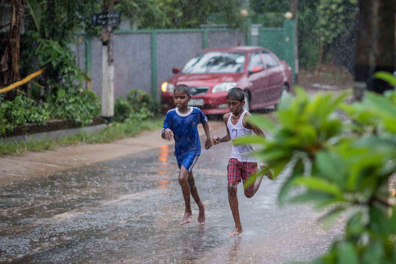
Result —
M 177 106 L 180 113 L 185 114 L 190 110 L 188 106 L 188 102 L 191 100 L 191 95 L 187 95 L 187 93 L 183 92 L 174 92 L 173 93 L 173 101 Z M 205 142 L 205 150 L 208 150 L 212 146 L 212 142 L 210 139 L 209 133 L 209 124 L 208 122 L 203 123 L 202 126 L 204 127 L 204 131 L 206 134 L 206 142 Z M 171 142 L 173 137 L 173 131 L 167 128 L 165 129 L 162 134 L 162 138 L 166 141 Z M 199 195 L 198 190 L 195 186 L 194 175 L 192 174 L 192 170 L 188 172 L 188 170 L 182 165 L 179 172 L 179 184 L 181 186 L 181 192 L 183 193 L 184 203 L 185 203 L 185 212 L 183 215 L 183 219 L 181 220 L 180 224 L 187 224 L 191 221 L 192 218 L 192 211 L 191 211 L 191 204 L 190 204 L 190 194 L 199 208 L 198 213 L 198 222 L 202 225 L 205 224 L 205 205 L 202 203 Z

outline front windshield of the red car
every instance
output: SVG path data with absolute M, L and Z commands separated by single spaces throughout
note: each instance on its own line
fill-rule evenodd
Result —
M 199 53 L 184 66 L 182 73 L 237 73 L 245 65 L 243 52 Z

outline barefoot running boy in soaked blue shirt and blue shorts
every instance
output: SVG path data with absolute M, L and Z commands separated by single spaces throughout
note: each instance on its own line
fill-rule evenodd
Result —
M 177 107 L 169 110 L 166 114 L 161 136 L 169 142 L 172 141 L 172 137 L 175 139 L 175 156 L 180 169 L 179 184 L 186 206 L 183 220 L 181 220 L 180 224 L 187 224 L 191 221 L 190 194 L 199 208 L 198 222 L 205 224 L 205 205 L 199 198 L 194 176 L 192 175 L 192 167 L 194 167 L 198 156 L 201 154 L 201 143 L 197 127 L 199 123 L 202 123 L 206 134 L 206 150 L 212 146 L 212 142 L 208 118 L 199 108 L 188 106 L 190 100 L 190 88 L 184 84 L 177 85 L 173 90 L 173 101 Z

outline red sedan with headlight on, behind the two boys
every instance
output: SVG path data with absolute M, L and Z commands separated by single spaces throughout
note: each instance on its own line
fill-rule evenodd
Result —
M 227 92 L 232 87 L 245 91 L 246 110 L 276 105 L 284 91 L 293 85 L 291 68 L 271 51 L 262 47 L 226 47 L 204 49 L 162 84 L 162 112 L 175 108 L 173 88 L 190 87 L 190 106 L 204 114 L 228 113 Z

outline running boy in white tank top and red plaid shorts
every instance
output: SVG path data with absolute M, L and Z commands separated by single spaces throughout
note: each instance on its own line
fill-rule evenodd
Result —
M 221 142 L 227 142 L 234 140 L 238 137 L 245 137 L 253 135 L 253 132 L 258 135 L 265 137 L 263 131 L 256 127 L 255 125 L 247 122 L 247 118 L 251 116 L 247 110 L 244 110 L 245 105 L 245 93 L 241 88 L 234 87 L 228 91 L 227 94 L 227 104 L 231 113 L 225 114 L 223 116 L 224 123 L 227 126 L 227 135 L 224 137 L 212 138 L 213 145 L 217 145 Z M 242 224 L 239 217 L 238 209 L 238 198 L 236 196 L 238 183 L 241 179 L 245 182 L 254 173 L 257 173 L 259 169 L 257 168 L 257 160 L 255 156 L 252 155 L 254 152 L 253 144 L 233 144 L 231 150 L 231 156 L 228 160 L 227 166 L 227 178 L 228 178 L 228 202 L 230 203 L 232 217 L 235 221 L 235 229 L 228 236 L 238 236 L 243 232 Z M 267 168 L 266 165 L 261 164 L 261 169 Z M 269 179 L 273 178 L 271 172 L 267 176 Z M 257 177 L 256 182 L 247 188 L 244 188 L 244 193 L 247 198 L 253 197 L 260 187 L 261 180 L 263 176 Z

